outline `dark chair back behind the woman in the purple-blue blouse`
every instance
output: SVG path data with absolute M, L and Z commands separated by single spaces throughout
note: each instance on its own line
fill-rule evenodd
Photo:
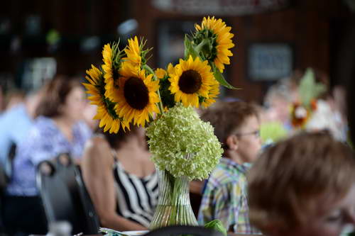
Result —
M 37 184 L 48 223 L 66 220 L 72 225 L 72 234 L 97 234 L 99 219 L 69 154 L 40 162 Z

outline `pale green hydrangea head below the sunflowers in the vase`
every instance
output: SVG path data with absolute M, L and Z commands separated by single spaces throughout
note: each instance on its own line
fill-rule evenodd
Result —
M 192 107 L 178 104 L 147 128 L 152 160 L 175 177 L 207 179 L 222 156 L 214 128 Z

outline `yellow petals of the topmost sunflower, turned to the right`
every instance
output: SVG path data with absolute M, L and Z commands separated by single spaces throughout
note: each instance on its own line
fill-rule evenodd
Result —
M 232 43 L 231 38 L 233 38 L 234 34 L 230 33 L 231 27 L 227 27 L 226 23 L 222 21 L 222 19 L 216 19 L 214 16 L 212 18 L 203 18 L 202 24 L 195 25 L 197 31 L 201 31 L 204 29 L 211 30 L 214 35 L 217 36 L 215 50 L 217 51 L 217 55 L 214 56 L 214 64 L 219 69 L 219 72 L 223 72 L 224 64 L 230 64 L 229 57 L 233 54 L 229 50 L 229 48 L 234 47 L 234 43 Z

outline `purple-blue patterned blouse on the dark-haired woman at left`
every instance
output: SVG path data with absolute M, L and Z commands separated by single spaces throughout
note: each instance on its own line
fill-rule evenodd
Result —
M 73 140 L 69 141 L 51 118 L 40 116 L 35 120 L 28 136 L 18 145 L 13 164 L 13 176 L 6 189 L 11 196 L 36 196 L 35 168 L 45 159 L 53 159 L 60 153 L 70 153 L 81 158 L 85 142 L 92 131 L 85 123 L 72 127 Z

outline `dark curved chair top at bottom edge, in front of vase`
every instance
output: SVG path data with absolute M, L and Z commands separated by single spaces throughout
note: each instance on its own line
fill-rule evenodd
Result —
M 222 232 L 210 230 L 201 226 L 175 225 L 161 227 L 148 232 L 145 236 L 174 236 L 174 235 L 196 235 L 196 236 L 223 236 Z

